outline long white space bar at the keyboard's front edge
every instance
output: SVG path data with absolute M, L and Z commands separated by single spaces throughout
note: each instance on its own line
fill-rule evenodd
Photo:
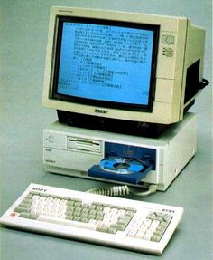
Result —
M 79 221 L 74 221 L 74 220 L 67 220 L 63 218 L 58 218 L 58 217 L 48 217 L 48 216 L 43 216 L 40 215 L 37 217 L 37 220 L 42 221 L 42 222 L 47 222 L 47 223 L 53 223 L 53 224 L 58 224 L 62 226 L 73 226 L 73 227 L 78 227 L 78 228 L 84 228 L 84 229 L 90 229 L 90 230 L 96 230 L 96 225 L 90 224 L 90 223 L 83 223 Z

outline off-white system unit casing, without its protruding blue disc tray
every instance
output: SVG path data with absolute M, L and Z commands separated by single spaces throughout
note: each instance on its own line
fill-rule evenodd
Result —
M 158 139 L 74 128 L 57 121 L 43 130 L 44 168 L 53 173 L 93 178 L 88 176 L 88 169 L 105 159 L 108 143 L 115 144 L 111 147 L 121 147 L 115 151 L 116 155 L 134 157 L 131 149 L 125 149 L 126 154 L 122 151 L 122 147 L 133 147 L 152 160 L 153 169 L 134 186 L 153 183 L 158 184 L 159 190 L 165 190 L 195 154 L 195 115 L 187 113 L 184 120 L 171 126 Z

